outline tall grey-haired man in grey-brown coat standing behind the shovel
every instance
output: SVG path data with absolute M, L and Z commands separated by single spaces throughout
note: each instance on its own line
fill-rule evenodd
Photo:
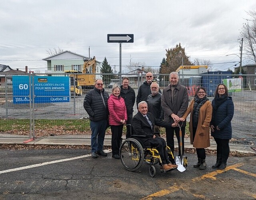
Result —
M 179 83 L 178 73 L 170 73 L 170 84 L 164 88 L 161 97 L 162 108 L 164 110 L 164 122 L 169 122 L 172 124 L 171 128 L 166 128 L 166 142 L 167 146 L 174 153 L 174 131 L 178 139 L 179 145 L 179 155 L 180 152 L 180 137 L 178 123 L 181 125 L 180 118 L 186 112 L 188 108 L 188 90 L 185 86 Z M 185 136 L 186 121 L 183 122 L 182 131 L 182 155 L 184 155 L 184 136 Z M 174 164 L 175 161 L 171 158 L 169 160 Z

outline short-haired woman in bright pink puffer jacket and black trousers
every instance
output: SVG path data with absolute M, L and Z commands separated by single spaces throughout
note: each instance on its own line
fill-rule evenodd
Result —
M 127 112 L 124 99 L 120 96 L 121 88 L 114 85 L 108 99 L 109 125 L 111 127 L 112 157 L 120 159 L 119 148 L 122 140 L 123 126 L 127 121 Z

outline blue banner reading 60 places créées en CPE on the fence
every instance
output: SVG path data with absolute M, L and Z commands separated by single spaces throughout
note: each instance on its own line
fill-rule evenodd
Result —
M 69 102 L 69 77 L 56 76 L 13 76 L 13 103 L 29 104 L 32 96 L 32 78 L 34 78 L 34 103 Z

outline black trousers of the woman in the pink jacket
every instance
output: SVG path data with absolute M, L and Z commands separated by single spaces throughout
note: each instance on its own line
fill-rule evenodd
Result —
M 123 126 L 124 125 L 118 125 L 114 126 L 111 125 L 111 132 L 112 132 L 112 138 L 111 138 L 111 146 L 112 146 L 112 154 L 118 154 L 119 155 L 119 149 L 120 149 L 120 141 L 122 140 L 122 132 L 123 132 Z

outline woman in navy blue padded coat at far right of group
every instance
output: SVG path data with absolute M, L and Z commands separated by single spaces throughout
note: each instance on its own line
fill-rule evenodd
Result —
M 211 135 L 217 144 L 217 161 L 212 168 L 224 170 L 229 156 L 229 140 L 232 137 L 231 120 L 234 115 L 234 103 L 228 96 L 228 89 L 224 84 L 219 84 L 212 100 Z

